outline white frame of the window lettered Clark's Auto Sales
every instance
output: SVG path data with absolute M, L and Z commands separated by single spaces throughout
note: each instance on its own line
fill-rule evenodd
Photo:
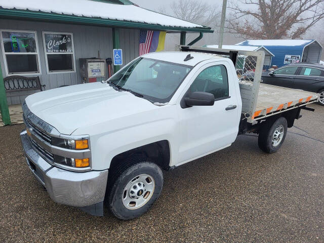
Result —
M 45 34 L 70 34 L 71 35 L 71 41 L 72 41 L 72 53 L 70 53 L 70 52 L 67 52 L 67 53 L 62 53 L 62 52 L 48 53 L 48 52 L 46 52 Z M 42 31 L 42 35 L 43 35 L 44 55 L 45 55 L 45 63 L 46 63 L 47 74 L 60 74 L 60 73 L 74 73 L 74 72 L 76 72 L 73 33 Z M 62 71 L 62 70 L 60 70 L 60 71 L 50 71 L 49 70 L 49 63 L 48 63 L 47 55 L 58 55 L 58 54 L 63 54 L 63 55 L 71 55 L 72 54 L 72 61 L 73 61 L 73 70 L 72 71 Z

